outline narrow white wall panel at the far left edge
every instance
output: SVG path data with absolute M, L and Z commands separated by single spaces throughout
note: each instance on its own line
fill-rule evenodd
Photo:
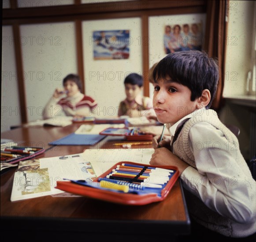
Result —
M 1 132 L 20 125 L 18 78 L 12 26 L 2 27 Z

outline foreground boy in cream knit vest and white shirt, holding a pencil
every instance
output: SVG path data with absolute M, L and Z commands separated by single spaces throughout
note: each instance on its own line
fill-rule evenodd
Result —
M 153 138 L 150 164 L 178 167 L 192 222 L 206 235 L 253 236 L 256 181 L 237 137 L 209 109 L 219 80 L 217 64 L 204 52 L 174 52 L 158 63 L 153 76 L 154 110 L 170 136 L 158 149 L 159 136 Z

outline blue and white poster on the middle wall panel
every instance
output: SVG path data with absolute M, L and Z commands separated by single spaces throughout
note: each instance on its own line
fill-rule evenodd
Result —
M 130 30 L 93 32 L 94 60 L 129 59 Z

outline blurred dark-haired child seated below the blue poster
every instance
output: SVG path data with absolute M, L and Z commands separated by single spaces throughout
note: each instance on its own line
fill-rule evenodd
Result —
M 137 73 L 129 74 L 125 80 L 126 99 L 120 102 L 118 115 L 130 117 L 154 115 L 152 99 L 141 95 L 143 77 Z

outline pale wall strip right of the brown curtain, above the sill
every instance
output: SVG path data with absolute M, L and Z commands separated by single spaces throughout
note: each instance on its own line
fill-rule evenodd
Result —
M 255 1 L 231 1 L 228 15 L 224 97 L 247 95 L 248 72 L 255 65 Z M 255 95 L 255 92 L 254 92 Z

